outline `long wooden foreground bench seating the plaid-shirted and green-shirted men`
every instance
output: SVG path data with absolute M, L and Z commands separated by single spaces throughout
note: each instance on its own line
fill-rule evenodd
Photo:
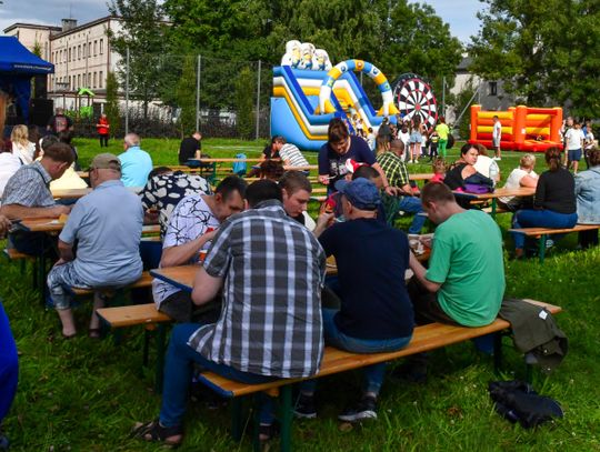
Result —
M 542 303 L 534 300 L 524 300 L 529 303 L 544 307 L 552 314 L 561 311 L 560 307 Z M 319 379 L 340 372 L 361 369 L 371 364 L 393 361 L 399 358 L 410 356 L 417 353 L 441 349 L 447 345 L 464 342 L 491 333 L 501 333 L 509 330 L 510 323 L 502 319 L 496 319 L 491 324 L 480 328 L 467 328 L 442 323 L 430 323 L 414 328 L 412 340 L 409 345 L 397 352 L 358 354 L 326 346 L 323 360 L 319 373 L 308 379 L 281 379 L 261 384 L 246 384 L 236 382 L 212 372 L 203 372 L 199 381 L 222 396 L 232 399 L 232 435 L 236 440 L 241 439 L 241 403 L 240 399 L 257 392 L 267 392 L 271 396 L 279 396 L 281 406 L 281 450 L 290 451 L 291 448 L 291 420 L 292 403 L 291 388 L 293 383 L 302 380 Z M 501 334 L 494 337 L 494 368 L 498 371 L 501 363 Z M 258 422 L 258 418 L 254 420 Z M 256 431 L 258 428 L 254 429 Z M 254 439 L 254 444 L 257 440 Z

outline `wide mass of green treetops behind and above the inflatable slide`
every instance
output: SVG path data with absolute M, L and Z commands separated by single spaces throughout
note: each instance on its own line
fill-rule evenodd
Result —
M 212 92 L 226 94 L 220 87 L 233 77 L 234 61 L 277 66 L 291 39 L 326 49 L 333 64 L 351 58 L 370 61 L 390 81 L 403 72 L 419 73 L 437 92 L 442 77 L 452 84 L 461 58 L 460 42 L 433 9 L 407 0 L 166 0 L 163 9 L 172 21 L 167 33 L 173 49 L 227 60 L 202 69 L 202 92 L 209 97 L 203 94 L 202 103 L 209 106 L 218 103 Z M 208 73 L 212 70 L 223 76 Z M 377 94 L 372 83 L 366 88 Z

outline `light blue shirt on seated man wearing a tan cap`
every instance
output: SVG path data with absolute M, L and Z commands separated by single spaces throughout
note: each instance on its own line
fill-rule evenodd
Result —
M 77 201 L 59 239 L 77 240 L 73 269 L 89 285 L 124 285 L 142 272 L 142 223 L 140 199 L 121 181 L 106 181 Z

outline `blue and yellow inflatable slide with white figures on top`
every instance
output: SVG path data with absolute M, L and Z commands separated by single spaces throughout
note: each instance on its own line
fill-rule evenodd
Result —
M 354 71 L 370 77 L 381 92 L 382 107 L 376 111 Z M 383 73 L 362 60 L 347 60 L 331 66 L 328 53 L 310 42 L 289 41 L 281 66 L 273 68 L 271 135 L 282 135 L 302 150 L 319 150 L 327 141 L 332 118 L 348 120 L 357 115 L 363 129 L 377 133 L 383 118 L 396 123 L 398 109 Z

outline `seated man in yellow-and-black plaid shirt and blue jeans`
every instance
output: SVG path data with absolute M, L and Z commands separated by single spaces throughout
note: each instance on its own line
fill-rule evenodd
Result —
M 396 187 L 401 191 L 401 194 L 396 198 L 394 211 L 414 213 L 408 232 L 409 234 L 418 234 L 421 232 L 427 217 L 422 214 L 421 201 L 412 194 L 407 167 L 400 158 L 403 153 L 404 143 L 401 140 L 393 140 L 390 143 L 390 150 L 379 154 L 377 161 L 386 173 L 390 187 Z

